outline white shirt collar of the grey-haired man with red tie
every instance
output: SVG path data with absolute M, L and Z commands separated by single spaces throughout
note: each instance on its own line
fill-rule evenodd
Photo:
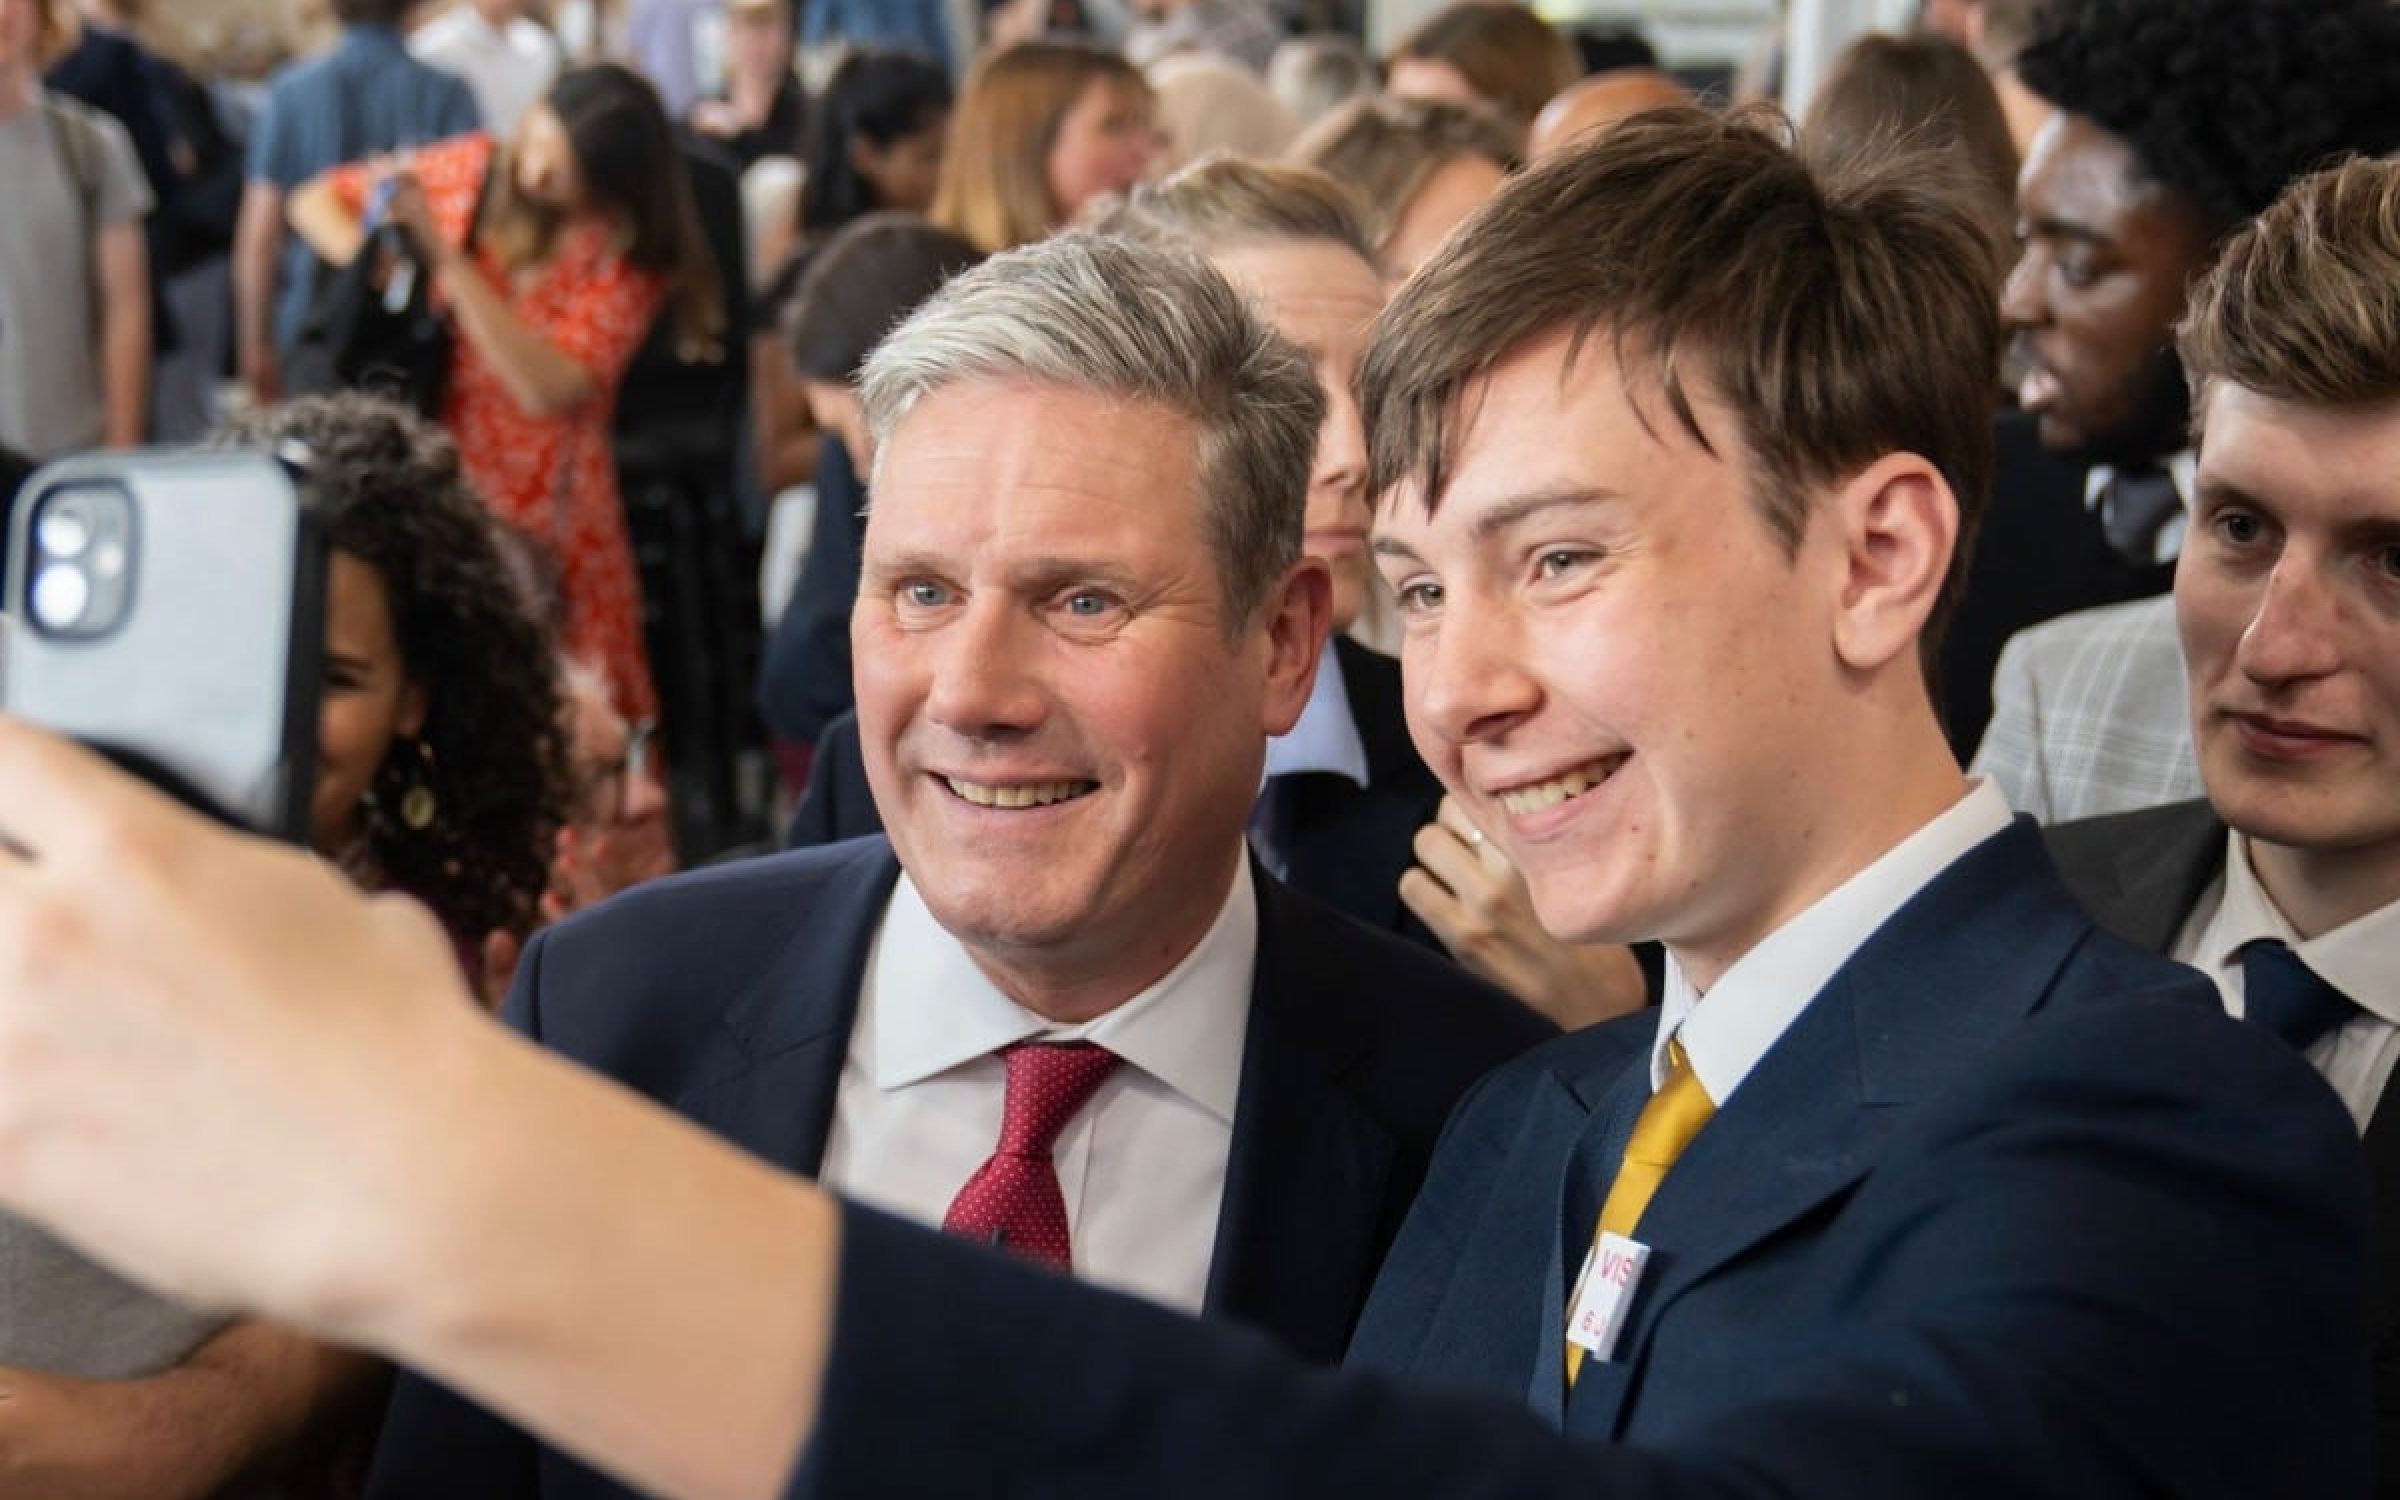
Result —
M 924 905 L 907 871 L 883 907 L 857 1042 L 878 1090 L 924 1082 L 1010 1042 L 1097 1042 L 1224 1123 L 1241 1092 L 1241 1049 L 1258 967 L 1250 862 L 1234 862 L 1217 922 L 1157 984 L 1106 1015 L 1056 1025 L 1010 1001 Z

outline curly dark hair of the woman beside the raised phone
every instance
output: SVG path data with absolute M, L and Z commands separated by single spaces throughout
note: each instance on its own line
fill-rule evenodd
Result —
M 218 444 L 302 444 L 326 542 L 384 578 L 391 629 L 425 684 L 434 821 L 370 818 L 391 890 L 422 900 L 458 938 L 523 936 L 540 919 L 550 852 L 569 802 L 557 648 L 526 600 L 506 528 L 458 468 L 458 449 L 379 396 L 305 396 L 218 430 Z M 398 806 L 420 773 L 394 742 L 374 797 Z

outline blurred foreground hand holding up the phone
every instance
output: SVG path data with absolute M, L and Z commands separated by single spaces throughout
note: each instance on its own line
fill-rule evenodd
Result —
M 490 1030 L 451 943 L 5 718 L 0 787 L 0 1200 L 197 1306 L 338 1298 L 324 1248 Z

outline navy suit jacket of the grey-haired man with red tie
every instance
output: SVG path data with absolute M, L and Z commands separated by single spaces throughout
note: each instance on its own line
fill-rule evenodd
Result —
M 1450 1106 L 1483 1070 L 1558 1032 L 1478 979 L 1253 874 L 1250 1032 L 1205 1313 L 1330 1363 Z M 504 1018 L 811 1174 L 898 876 L 890 845 L 874 838 L 641 886 L 528 943 Z M 403 1375 L 370 1495 L 624 1490 Z

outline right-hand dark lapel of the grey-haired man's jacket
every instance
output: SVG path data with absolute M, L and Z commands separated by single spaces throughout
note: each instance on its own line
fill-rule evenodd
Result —
M 1315 922 L 1253 866 L 1258 965 L 1205 1310 L 1330 1363 L 1366 1301 L 1394 1142 L 1344 1075 L 1378 1020 L 1322 974 Z

